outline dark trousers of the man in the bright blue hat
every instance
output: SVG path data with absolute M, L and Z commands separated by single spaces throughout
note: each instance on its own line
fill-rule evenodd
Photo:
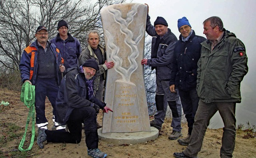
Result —
M 191 135 L 194 117 L 198 108 L 199 97 L 196 92 L 196 88 L 189 91 L 179 90 L 180 101 L 182 103 L 182 109 L 188 122 L 188 134 Z

